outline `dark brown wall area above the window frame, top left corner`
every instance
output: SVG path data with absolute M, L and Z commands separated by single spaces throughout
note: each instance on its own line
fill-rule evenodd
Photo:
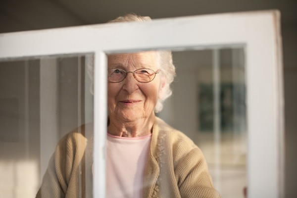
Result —
M 58 0 L 1 0 L 0 32 L 76 26 L 86 21 Z

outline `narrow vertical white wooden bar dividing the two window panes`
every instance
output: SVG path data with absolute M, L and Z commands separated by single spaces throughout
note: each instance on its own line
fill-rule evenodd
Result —
M 106 191 L 107 136 L 107 56 L 102 51 L 94 55 L 94 198 L 104 198 Z

